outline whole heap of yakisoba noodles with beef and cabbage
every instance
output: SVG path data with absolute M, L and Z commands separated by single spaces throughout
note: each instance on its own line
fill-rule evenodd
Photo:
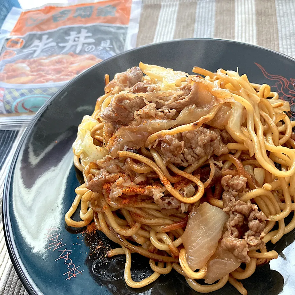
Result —
M 295 123 L 285 113 L 289 104 L 269 85 L 224 69 L 193 72 L 198 76 L 140 63 L 112 81 L 105 75 L 105 93 L 92 116 L 83 118 L 73 144 L 85 183 L 76 188 L 65 222 L 83 227 L 94 221 L 119 244 L 108 257 L 126 256 L 124 278 L 132 288 L 173 268 L 198 292 L 229 281 L 247 294 L 240 280 L 277 258 L 264 243 L 295 228 L 295 216 L 285 223 L 295 210 Z M 120 120 L 118 112 L 124 112 Z M 80 203 L 81 221 L 74 221 Z M 256 238 L 251 230 L 231 237 L 246 245 L 242 258 L 226 244 L 236 203 L 249 229 L 259 222 L 262 230 Z M 216 210 L 217 224 L 209 216 Z M 199 227 L 192 228 L 196 216 Z M 202 242 L 210 246 L 202 248 Z M 192 245 L 199 247 L 194 255 Z M 149 258 L 150 277 L 132 280 L 131 253 Z M 246 267 L 239 267 L 243 262 Z M 196 281 L 201 278 L 212 284 Z

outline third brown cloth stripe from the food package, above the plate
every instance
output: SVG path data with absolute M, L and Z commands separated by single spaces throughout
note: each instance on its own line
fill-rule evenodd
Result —
M 234 39 L 234 0 L 216 0 L 214 38 Z

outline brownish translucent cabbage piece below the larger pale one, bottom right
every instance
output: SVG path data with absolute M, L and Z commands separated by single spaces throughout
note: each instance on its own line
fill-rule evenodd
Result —
M 207 274 L 204 277 L 205 283 L 213 284 L 240 266 L 238 259 L 230 251 L 223 250 L 218 245 L 215 253 L 207 262 Z

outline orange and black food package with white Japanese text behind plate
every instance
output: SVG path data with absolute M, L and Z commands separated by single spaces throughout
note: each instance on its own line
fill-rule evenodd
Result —
M 0 52 L 0 114 L 36 112 L 67 81 L 135 47 L 141 2 L 23 11 Z

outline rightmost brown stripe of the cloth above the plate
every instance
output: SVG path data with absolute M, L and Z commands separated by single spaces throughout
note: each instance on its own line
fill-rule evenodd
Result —
M 279 51 L 275 0 L 257 0 L 255 10 L 257 44 Z

